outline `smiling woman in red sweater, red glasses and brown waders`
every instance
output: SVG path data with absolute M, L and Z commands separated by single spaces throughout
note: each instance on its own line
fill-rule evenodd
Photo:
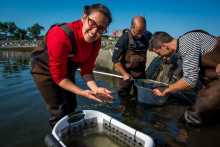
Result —
M 75 111 L 76 94 L 98 102 L 102 101 L 93 94 L 110 96 L 111 91 L 96 84 L 93 67 L 101 47 L 101 36 L 107 33 L 106 28 L 111 22 L 111 12 L 106 6 L 85 6 L 81 20 L 51 26 L 41 44 L 31 53 L 31 73 L 51 113 L 51 127 Z M 75 85 L 75 72 L 79 67 L 91 90 Z

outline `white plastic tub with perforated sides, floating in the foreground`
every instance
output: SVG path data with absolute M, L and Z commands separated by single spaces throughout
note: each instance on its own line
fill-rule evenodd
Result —
M 98 131 L 106 133 L 119 146 L 156 147 L 156 140 L 149 135 L 139 132 L 102 112 L 94 110 L 78 111 L 62 118 L 53 128 L 52 134 L 48 134 L 45 137 L 45 143 L 48 147 L 66 147 L 61 140 L 63 133 L 96 123 L 101 124 Z M 86 133 L 90 133 L 89 129 Z M 103 144 L 103 146 L 105 145 Z

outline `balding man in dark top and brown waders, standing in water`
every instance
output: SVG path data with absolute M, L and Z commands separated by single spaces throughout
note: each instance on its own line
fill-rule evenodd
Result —
M 146 53 L 151 35 L 146 31 L 145 18 L 137 16 L 131 21 L 131 30 L 125 32 L 115 45 L 112 62 L 123 76 L 119 79 L 120 97 L 129 95 L 132 85 L 134 93 L 137 92 L 131 79 L 145 79 Z

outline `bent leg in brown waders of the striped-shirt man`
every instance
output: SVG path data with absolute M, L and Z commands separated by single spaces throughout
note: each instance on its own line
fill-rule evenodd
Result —
M 211 81 L 196 94 L 195 103 L 189 107 L 180 121 L 190 126 L 201 126 L 219 122 L 220 80 Z

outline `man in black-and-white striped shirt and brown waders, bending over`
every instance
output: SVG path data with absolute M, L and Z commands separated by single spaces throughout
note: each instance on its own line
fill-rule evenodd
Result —
M 168 59 L 176 53 L 183 66 L 183 78 L 168 87 L 155 88 L 152 93 L 177 93 L 195 86 L 200 79 L 205 88 L 196 94 L 195 103 L 180 121 L 193 126 L 215 122 L 220 110 L 220 38 L 203 30 L 187 32 L 179 39 L 166 32 L 155 32 L 149 49 Z

